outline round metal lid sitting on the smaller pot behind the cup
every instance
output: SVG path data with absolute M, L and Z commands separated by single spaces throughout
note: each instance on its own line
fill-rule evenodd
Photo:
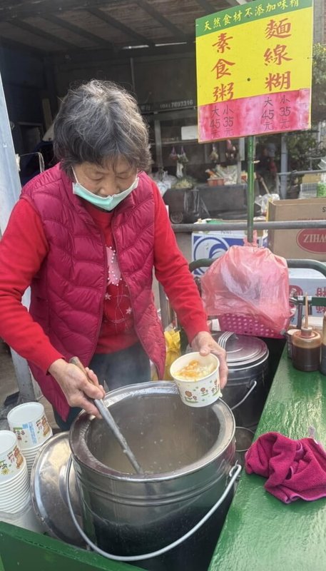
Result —
M 213 335 L 216 341 L 220 333 Z M 243 367 L 253 364 L 268 355 L 268 348 L 262 339 L 250 335 L 233 335 L 228 338 L 225 346 L 227 362 L 230 367 Z

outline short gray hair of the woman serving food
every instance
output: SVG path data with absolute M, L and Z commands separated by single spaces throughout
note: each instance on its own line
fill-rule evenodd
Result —
M 146 171 L 148 127 L 136 99 L 111 81 L 93 79 L 70 89 L 54 121 L 54 154 L 70 176 L 73 165 L 109 161 L 114 167 L 118 158 Z

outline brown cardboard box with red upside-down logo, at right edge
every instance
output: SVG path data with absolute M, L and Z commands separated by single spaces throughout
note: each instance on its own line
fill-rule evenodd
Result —
M 268 220 L 326 220 L 326 198 L 271 201 Z M 326 228 L 270 230 L 268 246 L 284 258 L 311 258 L 326 261 Z

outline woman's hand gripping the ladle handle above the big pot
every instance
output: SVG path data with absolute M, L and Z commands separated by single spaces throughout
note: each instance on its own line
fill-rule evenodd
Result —
M 61 387 L 69 406 L 83 408 L 86 413 L 101 418 L 91 399 L 103 398 L 105 391 L 98 383 L 96 374 L 88 368 L 86 370 L 92 383 L 81 369 L 72 363 L 67 363 L 64 359 L 57 359 L 49 367 L 50 375 Z

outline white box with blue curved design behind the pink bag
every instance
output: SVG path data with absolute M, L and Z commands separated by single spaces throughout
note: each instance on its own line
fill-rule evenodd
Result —
M 259 234 L 260 236 L 257 238 L 258 246 L 267 246 L 267 231 L 260 231 Z M 192 260 L 220 258 L 230 246 L 243 246 L 244 238 L 247 238 L 247 232 L 244 230 L 193 232 L 191 234 Z M 195 276 L 202 276 L 206 270 L 207 268 L 198 268 L 193 273 Z

